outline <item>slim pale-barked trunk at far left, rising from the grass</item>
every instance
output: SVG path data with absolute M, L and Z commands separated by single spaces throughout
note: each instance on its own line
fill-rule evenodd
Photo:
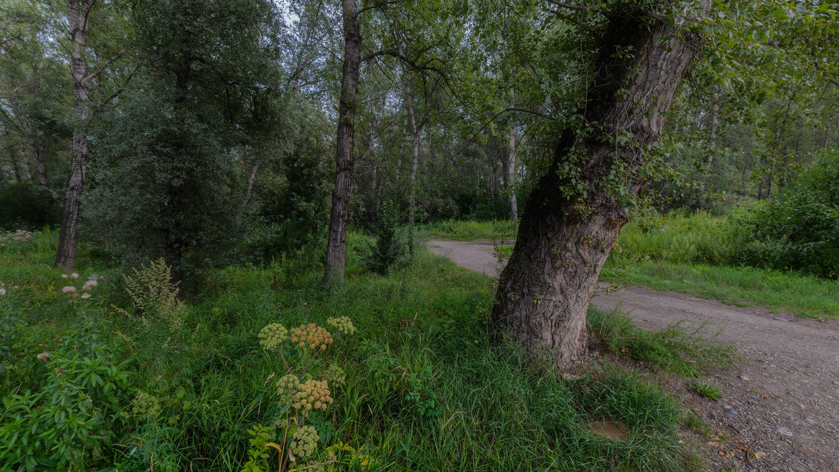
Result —
M 67 190 L 64 195 L 58 254 L 55 256 L 55 267 L 65 270 L 72 270 L 73 265 L 76 264 L 79 205 L 87 170 L 87 97 L 91 78 L 87 76 L 84 50 L 87 31 L 90 28 L 88 17 L 94 3 L 96 3 L 96 0 L 69 0 L 68 2 L 70 13 L 67 18 L 70 20 L 70 39 L 72 41 L 70 72 L 73 75 L 73 92 L 75 93 L 76 104 L 73 108 L 75 123 L 71 142 L 70 180 L 67 182 Z

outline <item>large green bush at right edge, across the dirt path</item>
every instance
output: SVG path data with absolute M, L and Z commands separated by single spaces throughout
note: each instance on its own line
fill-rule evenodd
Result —
M 839 149 L 827 149 L 795 181 L 737 218 L 737 262 L 839 276 Z

